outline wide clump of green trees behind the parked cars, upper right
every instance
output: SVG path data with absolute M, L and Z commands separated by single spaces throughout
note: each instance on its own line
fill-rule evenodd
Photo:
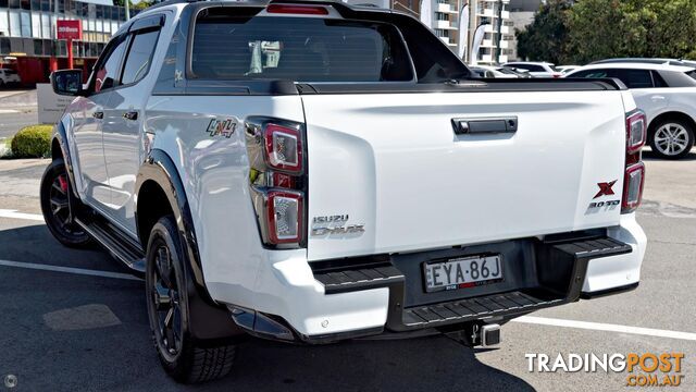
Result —
M 549 0 L 515 34 L 518 53 L 529 60 L 696 58 L 696 1 Z

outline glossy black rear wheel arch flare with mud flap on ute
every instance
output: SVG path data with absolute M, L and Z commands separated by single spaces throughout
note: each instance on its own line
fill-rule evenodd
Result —
M 183 270 L 187 285 L 191 335 L 196 340 L 204 341 L 232 339 L 243 334 L 244 332 L 236 327 L 226 307 L 215 303 L 208 292 L 184 184 L 174 161 L 161 149 L 151 149 L 140 166 L 135 184 L 136 200 L 138 200 L 137 195 L 140 188 L 149 181 L 157 183 L 166 196 L 182 236 L 184 256 L 182 261 L 184 262 Z M 137 203 L 135 210 L 136 222 L 138 222 Z M 144 233 L 140 233 L 140 228 L 138 228 L 138 237 L 141 241 L 146 237 Z M 147 246 L 146 243 L 142 245 Z

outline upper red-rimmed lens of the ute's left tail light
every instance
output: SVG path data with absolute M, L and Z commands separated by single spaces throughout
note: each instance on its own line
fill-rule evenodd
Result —
M 268 124 L 264 140 L 265 157 L 272 169 L 294 174 L 302 172 L 302 139 L 298 130 Z

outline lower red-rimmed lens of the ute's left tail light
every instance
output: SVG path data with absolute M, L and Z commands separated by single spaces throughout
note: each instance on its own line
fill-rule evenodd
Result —
M 268 193 L 269 237 L 274 244 L 299 243 L 302 232 L 302 195 L 295 192 Z

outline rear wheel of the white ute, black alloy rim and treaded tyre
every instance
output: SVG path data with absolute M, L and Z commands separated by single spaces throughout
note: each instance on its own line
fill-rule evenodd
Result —
M 226 376 L 236 346 L 202 347 L 190 331 L 183 247 L 174 217 L 161 218 L 147 247 L 146 295 L 150 330 L 164 370 L 176 381 L 197 383 Z

